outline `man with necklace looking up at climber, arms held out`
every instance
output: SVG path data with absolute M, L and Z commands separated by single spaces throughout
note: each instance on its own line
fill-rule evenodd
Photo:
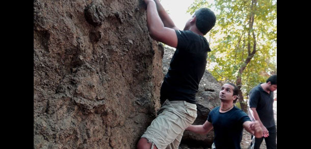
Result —
M 258 121 L 251 122 L 247 114 L 234 106 L 238 99 L 238 87 L 226 83 L 221 87 L 220 106 L 214 108 L 203 125 L 191 125 L 186 130 L 199 134 L 207 134 L 214 128 L 215 138 L 212 148 L 241 148 L 243 128 L 261 137 L 263 132 Z

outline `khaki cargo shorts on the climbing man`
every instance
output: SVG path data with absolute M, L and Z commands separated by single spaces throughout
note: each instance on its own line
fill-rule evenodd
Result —
M 141 138 L 146 138 L 159 149 L 178 148 L 184 130 L 197 117 L 196 104 L 166 100 Z M 152 148 L 153 149 L 153 148 Z

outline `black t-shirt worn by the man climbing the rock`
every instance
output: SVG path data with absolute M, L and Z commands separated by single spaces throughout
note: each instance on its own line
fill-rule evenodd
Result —
M 185 100 L 196 103 L 195 94 L 204 74 L 208 41 L 191 31 L 175 30 L 178 43 L 161 86 L 161 101 Z

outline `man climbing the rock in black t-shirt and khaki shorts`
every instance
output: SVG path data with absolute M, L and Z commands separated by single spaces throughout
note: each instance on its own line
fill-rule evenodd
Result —
M 184 130 L 196 116 L 195 94 L 211 51 L 203 37 L 215 25 L 216 16 L 208 8 L 199 9 L 180 31 L 159 0 L 147 4 L 147 27 L 151 38 L 176 48 L 161 86 L 162 106 L 137 148 L 178 148 Z

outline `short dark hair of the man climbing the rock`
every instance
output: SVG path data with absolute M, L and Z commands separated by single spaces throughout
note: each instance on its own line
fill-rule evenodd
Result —
M 208 8 L 200 8 L 195 11 L 196 27 L 199 31 L 205 35 L 214 27 L 216 22 L 216 16 L 214 12 Z

